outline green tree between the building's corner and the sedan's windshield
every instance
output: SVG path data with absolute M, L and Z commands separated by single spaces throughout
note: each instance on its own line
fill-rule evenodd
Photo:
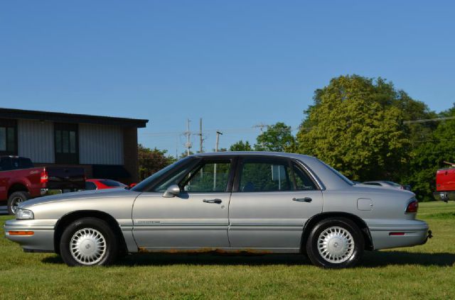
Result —
M 139 179 L 144 180 L 175 161 L 174 157 L 166 156 L 167 150 L 150 149 L 138 145 Z

